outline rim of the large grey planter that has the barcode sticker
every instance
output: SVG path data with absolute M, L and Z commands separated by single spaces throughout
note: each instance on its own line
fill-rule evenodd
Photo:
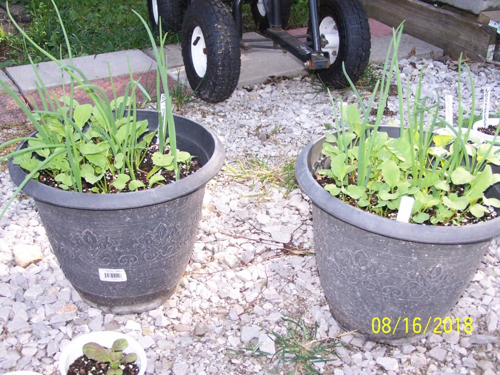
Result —
M 137 113 L 142 113 L 151 118 L 157 115 L 156 111 L 145 109 L 138 109 Z M 22 191 L 32 196 L 35 200 L 48 204 L 90 210 L 144 207 L 187 195 L 201 186 L 204 186 L 215 176 L 215 174 L 217 174 L 224 163 L 225 151 L 217 135 L 201 123 L 177 114 L 174 114 L 173 117 L 176 127 L 178 127 L 178 129 L 176 129 L 177 138 L 193 142 L 208 154 L 208 160 L 200 169 L 179 181 L 140 191 L 90 194 L 62 190 L 30 179 L 24 185 Z M 193 129 L 195 131 L 193 131 Z M 197 135 L 199 139 L 192 139 L 192 134 Z M 24 141 L 21 142 L 16 149 L 21 147 L 23 143 Z M 25 171 L 19 165 L 12 163 L 12 158 L 9 159 L 8 170 L 10 178 L 17 186 L 26 176 Z

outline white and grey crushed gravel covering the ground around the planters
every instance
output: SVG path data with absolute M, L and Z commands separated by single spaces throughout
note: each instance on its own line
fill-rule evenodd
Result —
M 456 75 L 447 64 L 404 60 L 413 81 L 426 65 L 423 92 L 456 97 Z M 500 110 L 498 67 L 471 64 L 476 87 L 491 86 L 491 110 Z M 463 73 L 465 77 L 466 73 Z M 463 90 L 466 107 L 470 91 Z M 352 92 L 334 92 L 354 101 Z M 477 106 L 482 95 L 476 92 Z M 388 109 L 395 110 L 390 102 Z M 289 161 L 332 123 L 327 93 L 300 77 L 237 89 L 225 102 L 192 102 L 182 114 L 210 127 L 226 147 L 226 161 L 245 154 L 269 165 Z M 444 117 L 444 109 L 441 115 Z M 454 110 L 456 114 L 456 107 Z M 480 109 L 477 109 L 477 114 Z M 0 206 L 14 186 L 0 172 Z M 32 200 L 21 196 L 0 221 L 0 373 L 12 369 L 56 371 L 60 350 L 84 332 L 119 330 L 137 338 L 150 374 L 272 374 L 266 356 L 230 355 L 257 338 L 273 352 L 265 329 L 282 332 L 282 315 L 302 316 L 318 334 L 340 333 L 324 299 L 314 256 L 287 255 L 283 244 L 314 250 L 307 197 L 299 189 L 284 197 L 260 184 L 232 180 L 224 169 L 208 183 L 191 263 L 164 306 L 137 315 L 104 314 L 80 300 L 50 250 Z M 460 373 L 500 374 L 500 237 L 449 316 L 473 319 L 473 331 L 444 333 L 399 347 L 365 342 L 351 334 L 338 347 L 339 359 L 321 364 L 327 374 Z M 42 259 L 16 266 L 13 251 L 42 252 Z M 289 371 L 290 368 L 287 368 Z M 283 371 L 279 373 L 284 373 Z

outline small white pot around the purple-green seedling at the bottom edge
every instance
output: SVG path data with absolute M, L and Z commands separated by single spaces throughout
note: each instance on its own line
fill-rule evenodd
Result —
M 71 342 L 69 342 L 67 346 L 62 349 L 61 356 L 59 358 L 60 375 L 67 375 L 66 371 L 69 368 L 69 365 L 73 363 L 76 358 L 83 355 L 82 348 L 84 344 L 88 342 L 97 342 L 98 344 L 109 348 L 118 338 L 125 338 L 128 342 L 128 346 L 123 350 L 125 353 L 133 352 L 137 354 L 136 362 L 139 367 L 139 373 L 137 375 L 144 375 L 144 372 L 146 371 L 147 359 L 146 352 L 142 348 L 142 345 L 136 339 L 127 336 L 126 334 L 110 330 L 85 333 L 71 340 Z

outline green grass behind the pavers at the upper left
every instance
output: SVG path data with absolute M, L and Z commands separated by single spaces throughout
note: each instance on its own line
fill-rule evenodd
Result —
M 92 55 L 149 46 L 147 32 L 132 9 L 147 19 L 145 0 L 54 0 L 66 28 L 73 56 Z M 63 34 L 49 0 L 23 0 L 33 20 L 25 27 L 29 37 L 54 56 L 67 57 Z M 167 33 L 167 43 L 176 42 L 179 34 Z M 41 54 L 26 46 L 20 35 L 9 34 L 6 40 L 10 59 L 0 67 L 43 61 Z

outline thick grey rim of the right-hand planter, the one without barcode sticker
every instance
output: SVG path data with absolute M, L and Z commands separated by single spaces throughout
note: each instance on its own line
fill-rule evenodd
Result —
M 394 126 L 379 127 L 382 131 L 386 128 Z M 324 136 L 319 137 L 302 149 L 295 161 L 295 176 L 312 202 L 330 215 L 372 233 L 413 242 L 456 244 L 482 242 L 500 234 L 500 217 L 470 225 L 422 225 L 377 216 L 343 202 L 321 187 L 313 177 L 310 160 L 312 149 L 318 143 L 322 144 L 324 140 Z

